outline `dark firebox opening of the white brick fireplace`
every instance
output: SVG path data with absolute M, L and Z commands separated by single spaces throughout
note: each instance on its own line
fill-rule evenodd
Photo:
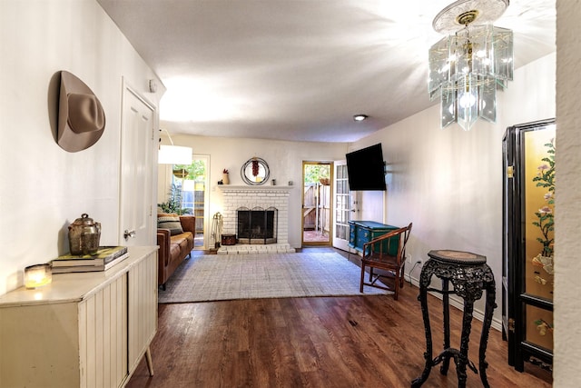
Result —
M 276 244 L 278 210 L 275 207 L 239 207 L 236 214 L 238 244 Z

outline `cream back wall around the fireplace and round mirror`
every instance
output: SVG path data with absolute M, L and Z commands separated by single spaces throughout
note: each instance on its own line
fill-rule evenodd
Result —
M 191 146 L 194 154 L 210 155 L 210 214 L 206 221 L 212 220 L 213 214 L 222 211 L 222 193 L 216 188 L 222 179 L 222 170 L 230 172 L 230 184 L 245 185 L 241 178 L 241 167 L 251 157 L 261 157 L 269 164 L 270 179 L 276 179 L 277 184 L 287 185 L 293 181 L 294 189 L 289 197 L 289 244 L 300 247 L 301 242 L 301 206 L 302 206 L 302 162 L 303 161 L 335 161 L 345 159 L 347 144 L 344 143 L 300 143 L 260 139 L 233 139 L 225 137 L 205 137 L 178 135 L 172 133 L 171 123 L 162 123 L 162 127 L 172 134 L 176 145 Z M 164 139 L 165 140 L 165 139 Z M 163 169 L 160 167 L 162 176 Z M 159 181 L 158 193 L 167 193 L 167 184 Z M 271 184 L 267 182 L 266 184 Z M 160 196 L 161 198 L 161 196 Z M 161 202 L 161 200 L 160 200 Z M 212 224 L 206 224 L 206 231 Z

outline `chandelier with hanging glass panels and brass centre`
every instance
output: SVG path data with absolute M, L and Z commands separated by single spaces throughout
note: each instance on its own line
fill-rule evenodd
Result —
M 432 23 L 447 36 L 429 49 L 430 100 L 440 98 L 440 126 L 469 131 L 478 117 L 497 121 L 497 89 L 513 75 L 512 31 L 492 22 L 508 0 L 459 0 Z

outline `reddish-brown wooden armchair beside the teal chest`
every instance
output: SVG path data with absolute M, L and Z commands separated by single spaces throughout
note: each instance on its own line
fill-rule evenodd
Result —
M 359 292 L 363 293 L 363 285 L 393 291 L 397 301 L 399 288 L 404 284 L 404 269 L 406 266 L 406 244 L 408 244 L 411 223 L 388 234 L 363 244 L 361 257 L 361 282 Z M 369 267 L 369 282 L 365 282 L 365 267 Z M 376 273 L 376 270 L 380 270 Z M 378 284 L 378 280 L 381 284 Z

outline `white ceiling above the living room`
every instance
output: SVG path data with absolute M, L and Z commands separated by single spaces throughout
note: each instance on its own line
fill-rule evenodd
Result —
M 438 104 L 428 48 L 451 0 L 97 1 L 166 86 L 172 134 L 353 142 Z M 512 0 L 495 25 L 518 68 L 555 51 L 555 23 L 555 0 Z

